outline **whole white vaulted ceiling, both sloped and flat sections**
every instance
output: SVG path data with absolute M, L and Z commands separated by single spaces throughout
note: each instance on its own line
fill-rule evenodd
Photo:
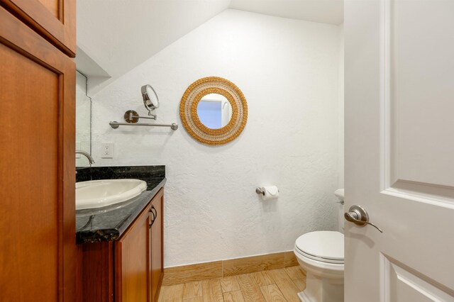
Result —
M 340 24 L 342 0 L 77 0 L 77 69 L 92 94 L 225 9 Z

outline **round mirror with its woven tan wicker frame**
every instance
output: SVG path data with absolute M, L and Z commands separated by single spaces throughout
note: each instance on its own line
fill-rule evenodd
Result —
M 189 85 L 179 104 L 184 128 L 207 145 L 223 145 L 238 138 L 248 121 L 243 92 L 221 77 L 204 77 Z

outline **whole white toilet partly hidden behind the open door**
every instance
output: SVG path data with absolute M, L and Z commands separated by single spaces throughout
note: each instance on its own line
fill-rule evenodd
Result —
M 343 302 L 343 189 L 339 198 L 339 231 L 316 231 L 298 237 L 294 246 L 299 265 L 306 271 L 303 302 Z

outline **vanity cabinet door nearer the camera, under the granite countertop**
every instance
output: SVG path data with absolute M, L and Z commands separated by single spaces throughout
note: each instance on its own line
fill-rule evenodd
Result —
M 115 246 L 115 301 L 148 301 L 150 206 L 140 213 Z

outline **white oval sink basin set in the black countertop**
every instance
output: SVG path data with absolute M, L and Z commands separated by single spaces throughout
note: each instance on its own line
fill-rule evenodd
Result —
M 76 210 L 101 208 L 127 201 L 147 189 L 140 179 L 103 179 L 76 183 Z

